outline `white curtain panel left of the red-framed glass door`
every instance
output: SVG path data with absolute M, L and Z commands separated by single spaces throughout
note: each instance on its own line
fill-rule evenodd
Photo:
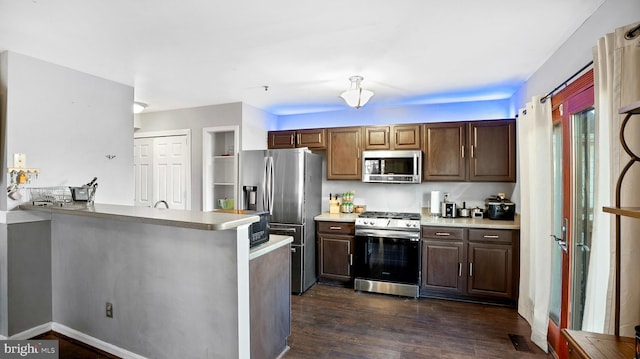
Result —
M 531 325 L 531 340 L 547 351 L 551 292 L 551 101 L 534 97 L 517 120 L 520 164 L 520 298 L 518 313 Z

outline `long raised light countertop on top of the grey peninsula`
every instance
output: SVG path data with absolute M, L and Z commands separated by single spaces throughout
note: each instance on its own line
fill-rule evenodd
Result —
M 243 224 L 251 224 L 260 220 L 260 217 L 248 214 L 201 212 L 101 203 L 95 203 L 89 206 L 34 206 L 30 204 L 23 204 L 19 208 L 21 210 L 28 211 L 118 219 L 129 222 L 158 224 L 208 231 L 233 229 Z

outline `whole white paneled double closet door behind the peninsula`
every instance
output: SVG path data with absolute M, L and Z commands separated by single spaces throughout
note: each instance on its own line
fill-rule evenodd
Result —
M 134 205 L 166 201 L 171 209 L 190 209 L 189 133 L 137 134 L 133 149 Z

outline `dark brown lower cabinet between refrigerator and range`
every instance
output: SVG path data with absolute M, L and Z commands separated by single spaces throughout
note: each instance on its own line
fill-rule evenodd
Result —
M 318 281 L 351 285 L 355 227 L 348 222 L 318 222 Z

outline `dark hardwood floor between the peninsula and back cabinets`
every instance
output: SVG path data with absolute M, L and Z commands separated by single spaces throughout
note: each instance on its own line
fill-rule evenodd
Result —
M 292 297 L 290 358 L 546 358 L 513 308 L 314 285 Z M 509 337 L 524 339 L 516 351 Z

